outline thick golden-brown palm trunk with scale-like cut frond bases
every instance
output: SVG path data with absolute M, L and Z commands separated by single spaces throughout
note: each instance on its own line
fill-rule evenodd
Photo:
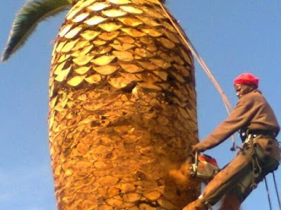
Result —
M 169 176 L 198 140 L 194 63 L 157 0 L 80 0 L 52 54 L 50 153 L 60 210 L 182 209 Z

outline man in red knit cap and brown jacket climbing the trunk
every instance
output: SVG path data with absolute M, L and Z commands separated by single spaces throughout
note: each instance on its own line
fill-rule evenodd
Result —
M 235 132 L 240 132 L 242 139 L 236 157 L 216 174 L 198 199 L 183 210 L 206 210 L 222 198 L 220 210 L 237 210 L 258 182 L 278 168 L 280 148 L 275 138 L 280 126 L 258 90 L 258 81 L 250 73 L 235 78 L 236 107 L 207 138 L 193 145 L 192 151 L 202 152 L 216 147 Z

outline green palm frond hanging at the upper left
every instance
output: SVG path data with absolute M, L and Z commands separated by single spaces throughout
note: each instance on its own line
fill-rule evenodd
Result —
M 71 6 L 72 1 L 73 0 L 28 1 L 17 13 L 1 60 L 8 60 L 14 52 L 19 50 L 39 22 L 65 10 L 65 8 Z

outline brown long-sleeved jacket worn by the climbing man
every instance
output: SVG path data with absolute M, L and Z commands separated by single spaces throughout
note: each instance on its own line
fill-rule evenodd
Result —
M 259 129 L 277 134 L 280 130 L 273 110 L 258 90 L 242 96 L 229 117 L 196 146 L 202 150 L 211 149 L 240 129 Z

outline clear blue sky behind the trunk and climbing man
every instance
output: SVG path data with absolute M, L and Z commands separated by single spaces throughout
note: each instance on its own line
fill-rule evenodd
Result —
M 0 7 L 0 49 L 23 0 Z M 281 123 L 281 1 L 167 0 L 194 47 L 235 105 L 233 78 L 252 72 Z M 65 13 L 44 21 L 25 47 L 0 63 L 0 209 L 56 209 L 48 149 L 48 76 L 52 41 Z M 220 95 L 196 62 L 199 136 L 204 138 L 227 116 Z M 236 141 L 240 143 L 236 136 Z M 207 151 L 220 166 L 235 153 L 231 140 Z M 276 174 L 281 189 L 281 174 Z M 272 176 L 268 178 L 273 187 Z M 273 210 L 278 202 L 272 189 Z M 264 183 L 242 209 L 269 209 Z

